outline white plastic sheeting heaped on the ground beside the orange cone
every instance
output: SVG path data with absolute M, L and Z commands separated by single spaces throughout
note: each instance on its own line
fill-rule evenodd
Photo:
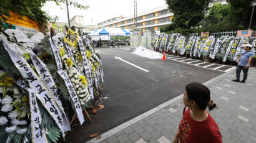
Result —
M 162 54 L 155 52 L 154 50 L 149 50 L 144 47 L 137 47 L 135 48 L 135 51 L 133 52 L 135 55 L 139 55 L 141 57 L 146 57 L 150 59 L 160 59 L 162 58 Z

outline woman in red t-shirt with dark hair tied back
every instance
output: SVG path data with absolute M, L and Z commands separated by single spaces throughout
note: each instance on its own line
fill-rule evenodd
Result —
M 183 117 L 179 124 L 179 130 L 175 135 L 174 143 L 222 143 L 219 127 L 209 111 L 216 107 L 210 100 L 210 90 L 200 83 L 186 85 L 183 102 L 187 111 L 183 111 Z

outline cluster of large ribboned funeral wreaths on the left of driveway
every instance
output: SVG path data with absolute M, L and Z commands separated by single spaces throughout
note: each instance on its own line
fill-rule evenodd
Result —
M 89 37 L 69 29 L 30 39 L 19 30 L 0 34 L 0 140 L 57 142 L 71 130 L 67 113 L 84 122 L 83 110 L 99 96 L 101 58 Z

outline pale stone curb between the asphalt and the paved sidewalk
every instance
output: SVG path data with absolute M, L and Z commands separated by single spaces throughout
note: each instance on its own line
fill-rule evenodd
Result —
M 219 75 L 215 78 L 212 78 L 211 80 L 209 81 L 206 81 L 205 83 L 203 83 L 203 85 L 209 85 L 210 83 L 216 81 L 216 80 L 219 80 L 220 78 L 226 76 L 226 75 L 229 75 L 230 73 L 232 73 L 232 70 L 230 70 L 229 72 L 227 73 L 223 73 L 222 75 Z M 117 127 L 114 127 L 113 129 L 105 132 L 104 134 L 101 134 L 100 136 L 97 136 L 95 137 L 94 139 L 91 139 L 90 141 L 87 141 L 86 143 L 97 143 L 97 142 L 101 142 L 103 141 L 104 139 L 107 139 L 107 137 L 110 137 L 114 134 L 116 134 L 117 132 L 119 131 L 122 131 L 123 129 L 125 129 L 126 127 L 129 127 L 131 126 L 132 124 L 134 124 L 135 122 L 137 121 L 140 121 L 141 119 L 144 119 L 146 118 L 147 116 L 150 116 L 151 114 L 153 113 L 156 113 L 157 111 L 159 111 L 160 109 L 162 108 L 165 108 L 166 106 L 168 106 L 169 104 L 172 104 L 174 103 L 175 101 L 178 101 L 179 99 L 182 99 L 183 97 L 183 94 L 179 95 L 179 96 L 176 96 L 175 98 L 172 98 L 170 99 L 169 101 L 166 101 L 165 103 L 162 103 L 160 104 L 159 106 L 153 108 L 153 109 L 150 109 L 149 111 L 143 113 L 143 114 L 140 114 L 139 116 L 133 118 L 133 119 L 130 119 L 129 121 L 127 122 L 124 122 L 123 124 L 117 126 Z

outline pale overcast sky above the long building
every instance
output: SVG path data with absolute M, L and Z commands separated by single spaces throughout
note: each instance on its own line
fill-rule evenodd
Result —
M 89 9 L 81 10 L 74 6 L 69 6 L 69 18 L 79 15 L 84 16 L 84 24 L 97 24 L 117 16 L 134 15 L 134 0 L 72 0 Z M 137 14 L 150 11 L 156 7 L 167 6 L 165 0 L 137 0 Z M 56 6 L 52 1 L 46 2 L 43 11 L 47 11 L 51 17 L 58 16 L 57 22 L 67 22 L 66 4 Z

